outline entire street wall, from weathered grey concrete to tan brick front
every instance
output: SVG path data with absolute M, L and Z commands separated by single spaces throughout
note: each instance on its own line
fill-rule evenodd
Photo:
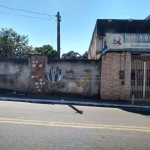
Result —
M 125 71 L 121 85 L 119 70 Z M 0 89 L 130 99 L 131 54 L 108 52 L 102 60 L 57 60 L 44 55 L 0 59 Z

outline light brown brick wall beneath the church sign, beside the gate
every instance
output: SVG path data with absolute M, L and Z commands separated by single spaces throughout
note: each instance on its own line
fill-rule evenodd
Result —
M 125 57 L 126 56 L 126 57 Z M 125 69 L 124 69 L 125 64 Z M 125 84 L 121 85 L 119 70 L 125 71 Z M 131 77 L 131 54 L 109 52 L 102 58 L 101 99 L 129 100 Z

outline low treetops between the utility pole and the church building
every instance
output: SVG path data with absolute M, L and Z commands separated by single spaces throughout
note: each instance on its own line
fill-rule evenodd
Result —
M 68 53 L 65 53 L 62 55 L 62 59 L 87 59 L 87 52 L 85 52 L 83 55 L 80 55 L 77 52 L 70 51 Z

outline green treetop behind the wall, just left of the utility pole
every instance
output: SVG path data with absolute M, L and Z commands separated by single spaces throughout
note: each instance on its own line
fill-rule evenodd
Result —
M 57 58 L 57 52 L 51 45 L 44 45 L 42 47 L 35 47 L 34 54 L 45 54 L 49 58 Z

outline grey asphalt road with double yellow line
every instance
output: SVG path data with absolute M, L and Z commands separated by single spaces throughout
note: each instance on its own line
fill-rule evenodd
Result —
M 150 110 L 0 101 L 0 150 L 149 150 Z

